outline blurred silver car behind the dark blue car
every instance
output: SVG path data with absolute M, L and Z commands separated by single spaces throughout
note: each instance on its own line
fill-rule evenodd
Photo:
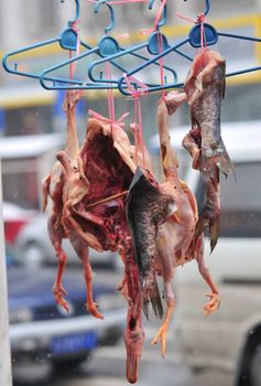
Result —
M 29 265 L 56 265 L 55 250 L 47 232 L 47 217 L 44 214 L 39 214 L 22 228 L 17 238 L 17 246 L 24 254 L 25 262 Z M 63 240 L 63 248 L 67 255 L 68 262 L 79 262 L 79 258 L 76 256 L 68 239 Z M 93 266 L 115 269 L 121 264 L 117 253 L 111 253 L 110 250 L 98 253 L 91 248 L 89 250 Z

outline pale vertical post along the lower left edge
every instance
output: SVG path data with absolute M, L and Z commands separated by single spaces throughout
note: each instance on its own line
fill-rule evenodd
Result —
M 2 173 L 0 159 L 0 385 L 12 385 L 8 317 L 7 261 L 2 215 Z

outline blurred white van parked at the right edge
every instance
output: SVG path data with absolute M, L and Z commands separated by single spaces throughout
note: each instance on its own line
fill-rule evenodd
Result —
M 182 150 L 187 129 L 172 131 L 186 180 L 203 205 L 204 186 L 199 173 Z M 235 385 L 261 385 L 261 122 L 222 125 L 222 138 L 235 164 L 232 176 L 221 178 L 221 228 L 218 245 L 206 261 L 220 296 L 220 309 L 203 317 L 208 291 L 192 261 L 177 269 L 175 325 L 183 337 L 185 354 L 193 368 L 229 372 Z M 159 152 L 153 138 L 152 148 Z M 246 380 L 247 379 L 247 380 Z M 246 383 L 242 383 L 246 382 Z M 251 382 L 251 383 L 250 383 Z

